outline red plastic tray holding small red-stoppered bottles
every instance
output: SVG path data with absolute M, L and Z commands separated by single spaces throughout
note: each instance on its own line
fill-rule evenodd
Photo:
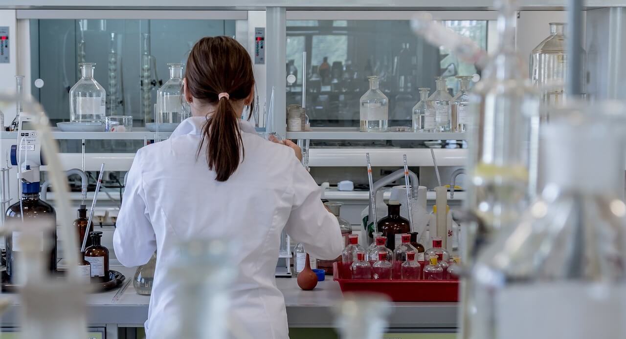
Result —
M 342 265 L 333 263 L 333 280 L 341 291 L 376 292 L 392 301 L 459 301 L 459 282 L 456 280 L 364 280 L 343 279 Z

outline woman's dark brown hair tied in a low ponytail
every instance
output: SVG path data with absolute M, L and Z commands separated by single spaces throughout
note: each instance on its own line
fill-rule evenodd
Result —
M 189 54 L 185 79 L 194 99 L 217 106 L 202 129 L 198 156 L 206 141 L 208 168 L 215 171 L 217 181 L 227 181 L 244 157 L 239 116 L 232 102 L 247 98 L 252 91 L 252 59 L 235 39 L 202 38 Z M 220 93 L 228 95 L 219 98 Z M 254 101 L 249 106 L 252 109 Z

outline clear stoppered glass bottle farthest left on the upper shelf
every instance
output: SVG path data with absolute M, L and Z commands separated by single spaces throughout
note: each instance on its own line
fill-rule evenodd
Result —
M 73 123 L 101 123 L 106 116 L 106 91 L 93 78 L 95 63 L 80 63 L 81 78 L 69 90 L 69 118 Z

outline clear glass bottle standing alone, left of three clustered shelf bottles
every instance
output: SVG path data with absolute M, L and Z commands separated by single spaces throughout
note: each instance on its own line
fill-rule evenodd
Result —
M 361 97 L 361 132 L 384 132 L 389 126 L 389 99 L 378 88 L 379 78 L 368 76 L 369 90 Z

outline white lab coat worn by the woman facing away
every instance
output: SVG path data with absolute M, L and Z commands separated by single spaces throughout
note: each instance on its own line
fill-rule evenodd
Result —
M 237 238 L 238 276 L 230 287 L 230 318 L 250 338 L 288 338 L 287 313 L 275 283 L 280 233 L 302 242 L 317 258 L 336 258 L 343 243 L 337 219 L 324 209 L 321 191 L 294 151 L 266 141 L 240 122 L 245 157 L 225 182 L 215 180 L 204 149 L 197 158 L 206 118 L 183 121 L 170 139 L 141 148 L 133 161 L 113 236 L 125 266 L 146 263 L 155 250 L 156 271 L 148 339 L 156 324 L 175 314 L 179 288 L 167 268 L 180 241 Z

